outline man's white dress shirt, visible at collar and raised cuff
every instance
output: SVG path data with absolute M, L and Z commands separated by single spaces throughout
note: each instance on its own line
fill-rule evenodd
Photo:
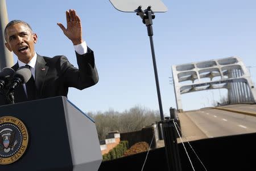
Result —
M 76 52 L 78 54 L 85 54 L 87 53 L 87 45 L 86 45 L 86 42 L 82 42 L 81 44 L 79 45 L 74 45 L 74 48 L 76 50 Z M 34 80 L 35 80 L 35 65 L 36 65 L 36 58 L 38 57 L 38 55 L 35 53 L 34 57 L 31 59 L 30 62 L 28 63 L 23 63 L 22 61 L 20 61 L 18 59 L 18 64 L 19 64 L 19 67 L 22 67 L 22 66 L 25 66 L 25 65 L 29 65 L 30 66 L 30 70 L 31 70 L 31 74 L 32 76 L 34 77 Z M 23 84 L 23 88 L 24 88 L 24 91 L 27 95 L 27 89 L 26 89 L 26 84 Z

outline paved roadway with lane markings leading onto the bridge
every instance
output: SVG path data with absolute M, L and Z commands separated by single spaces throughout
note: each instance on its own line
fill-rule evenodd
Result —
M 256 132 L 256 105 L 221 106 L 232 110 L 255 113 L 255 116 L 220 109 L 200 109 L 179 113 L 183 140 Z

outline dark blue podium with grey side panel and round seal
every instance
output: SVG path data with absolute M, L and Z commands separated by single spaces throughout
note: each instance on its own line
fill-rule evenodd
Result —
M 11 129 L 3 127 L 10 125 L 5 123 L 7 117 L 23 122 L 27 133 L 17 121 L 14 129 L 19 127 L 21 131 L 12 141 Z M 23 139 L 28 135 L 26 150 L 22 149 L 23 145 L 19 147 L 16 140 L 14 143 L 18 135 Z M 0 106 L 0 138 L 0 170 L 98 170 L 102 161 L 93 119 L 63 96 Z M 8 143 L 13 143 L 13 146 L 9 144 L 10 148 L 7 147 Z M 11 155 L 16 150 L 16 154 L 10 156 L 7 149 L 13 150 Z M 11 164 L 3 164 L 18 157 Z

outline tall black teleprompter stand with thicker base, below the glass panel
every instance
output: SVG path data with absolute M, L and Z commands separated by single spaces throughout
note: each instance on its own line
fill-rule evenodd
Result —
M 161 100 L 159 80 L 158 80 L 158 71 L 156 67 L 155 50 L 154 50 L 154 44 L 153 44 L 153 38 L 152 38 L 153 36 L 152 19 L 155 19 L 155 14 L 151 10 L 151 6 L 148 6 L 147 10 L 145 11 L 142 10 L 142 6 L 139 6 L 136 12 L 137 12 L 137 15 L 141 17 L 143 24 L 146 24 L 147 33 L 148 33 L 148 36 L 150 37 L 151 53 L 152 53 L 154 72 L 155 72 L 156 90 L 158 92 L 158 103 L 159 103 L 159 110 L 160 110 L 160 117 L 161 117 L 161 121 L 158 122 L 158 124 L 162 123 L 162 126 L 163 126 L 164 144 L 166 149 L 166 159 L 167 159 L 168 170 L 181 171 L 179 148 L 177 146 L 177 139 L 175 136 L 175 126 L 174 126 L 174 122 L 176 122 L 176 120 L 174 118 L 167 118 L 166 120 L 164 120 L 164 115 L 163 115 L 163 107 L 162 107 L 162 100 Z

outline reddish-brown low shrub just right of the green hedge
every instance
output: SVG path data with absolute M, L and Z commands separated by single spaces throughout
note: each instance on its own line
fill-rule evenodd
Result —
M 128 145 L 129 144 L 127 141 L 120 142 L 117 146 L 115 146 L 108 153 L 102 156 L 103 161 L 113 160 L 122 157 L 125 151 L 128 149 Z

